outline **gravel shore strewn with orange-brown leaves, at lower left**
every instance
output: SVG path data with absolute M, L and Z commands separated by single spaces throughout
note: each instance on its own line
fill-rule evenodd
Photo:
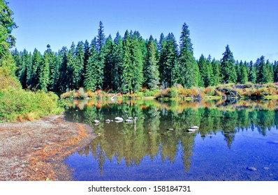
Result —
M 74 180 L 64 159 L 96 136 L 92 127 L 45 116 L 24 123 L 0 123 L 0 180 Z

